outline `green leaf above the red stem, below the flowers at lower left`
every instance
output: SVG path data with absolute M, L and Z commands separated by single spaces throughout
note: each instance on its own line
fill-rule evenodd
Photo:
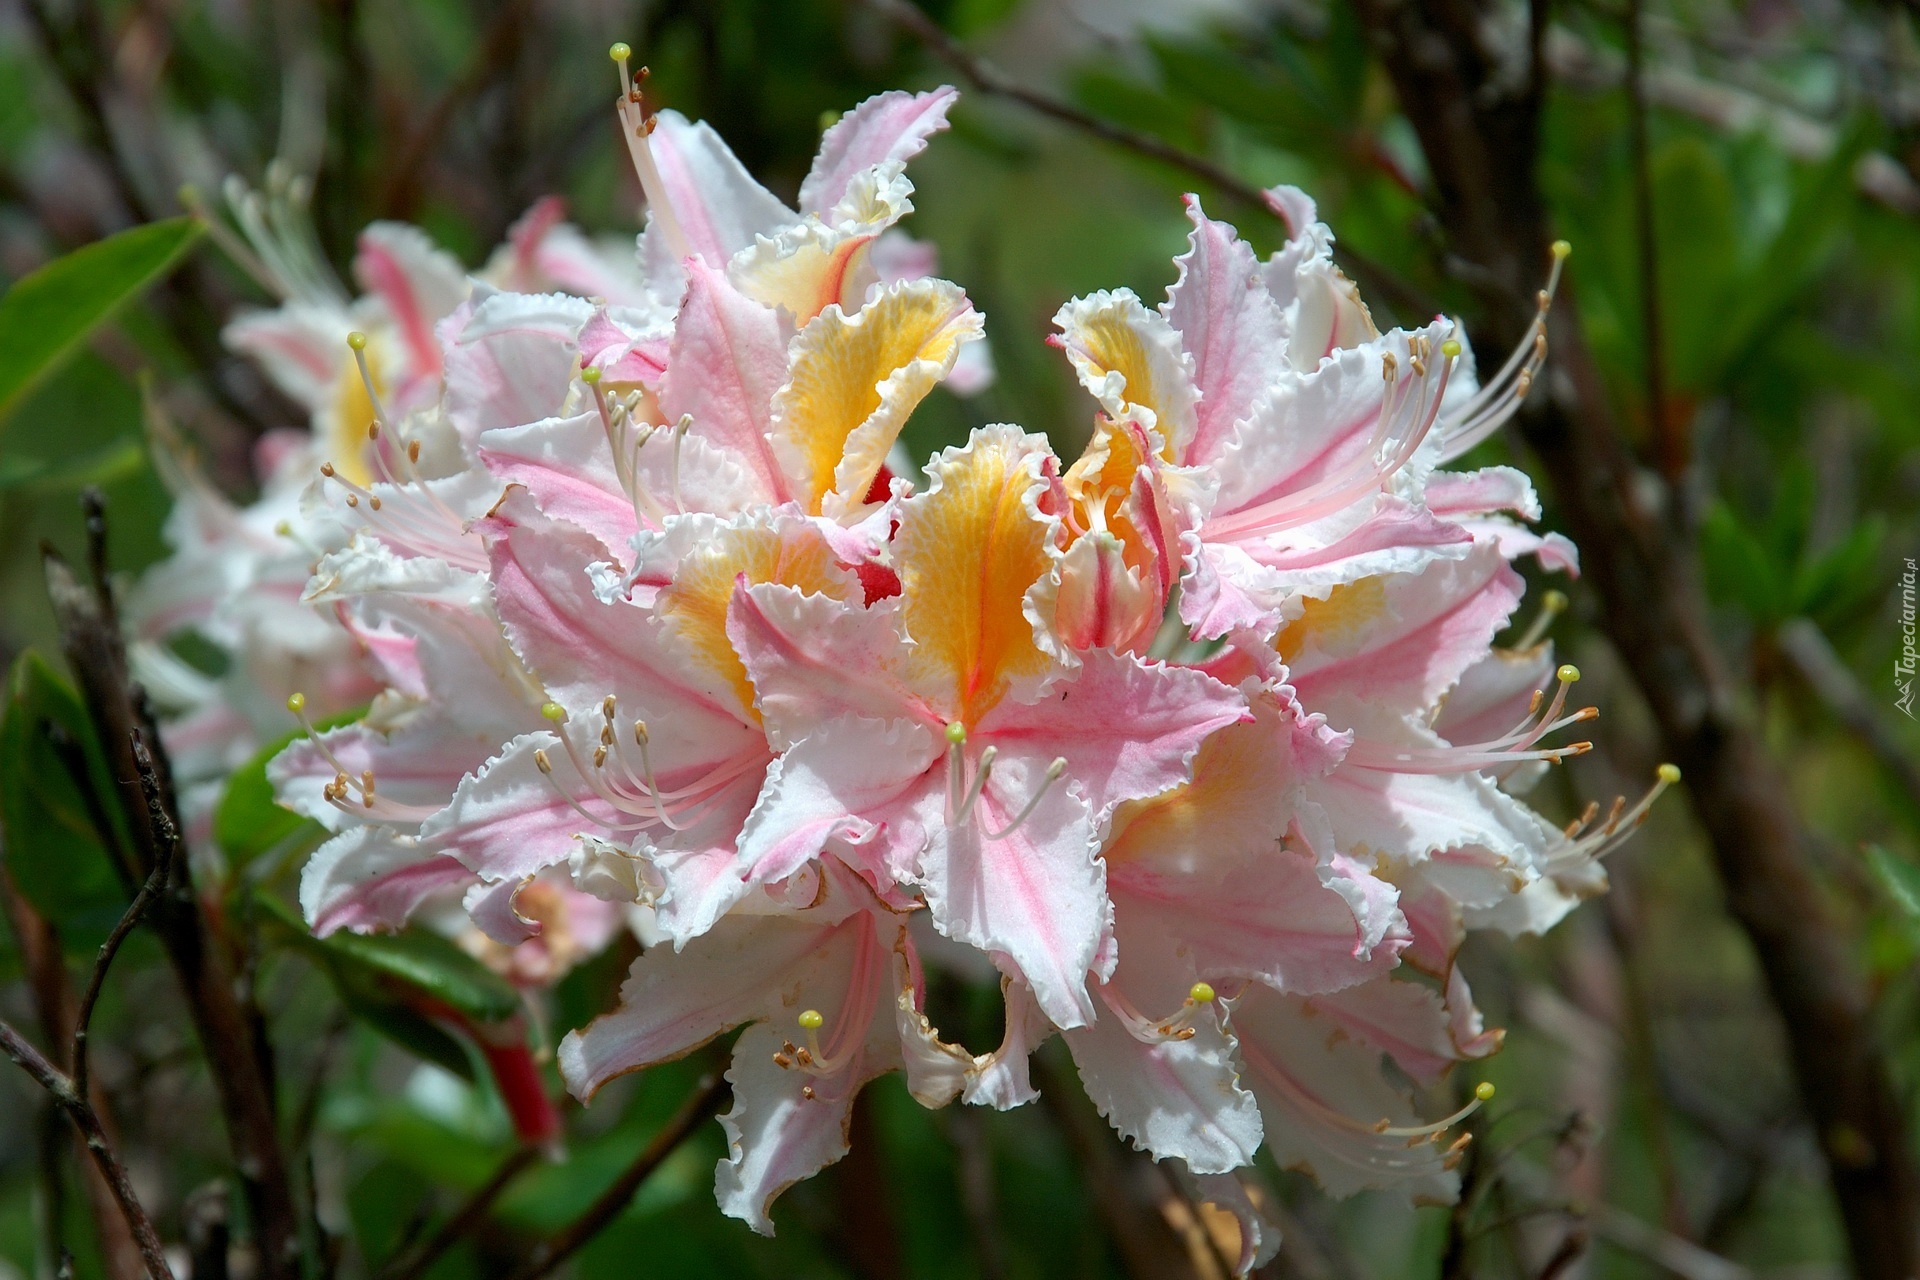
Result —
M 317 938 L 273 894 L 255 894 L 253 904 L 321 965 L 357 1019 L 461 1079 L 474 1077 L 472 1057 L 444 1029 L 436 1009 L 474 1023 L 499 1023 L 520 1011 L 520 992 L 511 983 L 438 933 L 342 931 Z

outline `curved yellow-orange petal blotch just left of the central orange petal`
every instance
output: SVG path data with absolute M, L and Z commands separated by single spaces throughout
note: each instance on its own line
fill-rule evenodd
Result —
M 728 681 L 739 697 L 741 712 L 758 720 L 753 681 L 726 633 L 726 606 L 741 576 L 753 585 L 774 581 L 835 601 L 858 601 L 860 595 L 858 580 L 833 558 L 826 537 L 799 520 L 730 526 L 701 541 L 680 562 L 674 581 L 660 589 L 660 616 L 687 639 L 701 662 Z

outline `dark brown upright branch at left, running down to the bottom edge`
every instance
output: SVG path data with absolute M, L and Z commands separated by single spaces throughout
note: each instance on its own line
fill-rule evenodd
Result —
M 140 875 L 167 862 L 165 892 L 148 919 L 186 998 L 188 1015 L 207 1057 L 209 1077 L 227 1123 L 234 1169 L 248 1201 L 248 1222 L 259 1255 L 261 1280 L 298 1274 L 300 1219 L 280 1148 L 273 1077 L 234 994 L 232 969 L 213 946 L 209 923 L 194 894 L 186 858 L 165 850 L 179 831 L 173 771 L 159 748 L 146 695 L 129 679 L 127 652 L 115 620 L 106 570 L 106 516 L 100 495 L 88 491 L 88 562 L 92 585 L 46 553 L 46 585 L 60 622 L 61 649 L 86 704 L 94 737 L 108 758 L 115 794 L 106 796 L 127 818 Z

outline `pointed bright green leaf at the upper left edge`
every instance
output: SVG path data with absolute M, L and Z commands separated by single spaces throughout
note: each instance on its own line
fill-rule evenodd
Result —
M 15 280 L 0 296 L 0 420 L 88 334 L 167 274 L 204 230 L 190 217 L 148 223 Z

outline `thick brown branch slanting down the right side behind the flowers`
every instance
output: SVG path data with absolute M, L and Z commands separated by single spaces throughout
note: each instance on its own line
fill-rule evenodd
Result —
M 1534 177 L 1540 94 L 1515 84 L 1484 0 L 1357 0 L 1369 36 L 1419 134 L 1453 249 L 1480 267 L 1492 349 L 1521 340 L 1549 226 Z M 1528 443 L 1584 549 L 1601 622 L 1686 773 L 1713 844 L 1726 906 L 1766 979 L 1807 1115 L 1828 1159 L 1855 1268 L 1907 1280 L 1920 1267 L 1920 1174 L 1907 1119 L 1872 1027 L 1872 1002 L 1814 875 L 1814 841 L 1741 706 L 1749 702 L 1705 626 L 1695 553 L 1636 497 L 1576 299 L 1551 320 L 1555 376 L 1524 415 Z

